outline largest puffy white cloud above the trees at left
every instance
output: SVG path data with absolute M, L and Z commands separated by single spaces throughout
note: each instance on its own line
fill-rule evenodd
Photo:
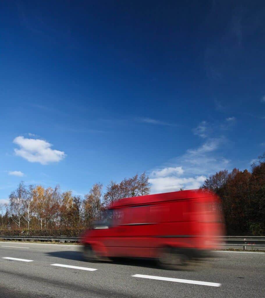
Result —
M 29 162 L 39 162 L 48 164 L 59 162 L 66 157 L 63 151 L 51 149 L 52 144 L 40 139 L 27 139 L 24 136 L 18 136 L 13 140 L 20 148 L 14 149 L 17 156 L 27 159 Z

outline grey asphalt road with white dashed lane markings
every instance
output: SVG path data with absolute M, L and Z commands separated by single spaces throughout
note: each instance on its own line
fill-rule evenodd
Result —
M 152 261 L 88 263 L 79 246 L 0 242 L 0 297 L 7 298 L 264 298 L 264 277 L 265 253 L 216 252 L 210 267 L 171 271 Z

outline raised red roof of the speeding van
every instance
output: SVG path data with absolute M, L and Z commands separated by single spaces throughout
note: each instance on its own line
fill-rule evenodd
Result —
M 158 193 L 154 195 L 141 195 L 137 197 L 123 198 L 114 202 L 112 205 L 110 205 L 109 208 L 119 208 L 121 206 L 127 206 L 127 205 L 143 205 L 143 204 L 148 204 L 153 202 L 202 198 L 202 197 L 209 197 L 209 196 L 213 196 L 213 194 L 208 191 L 181 190 L 181 191 L 174 191 L 171 193 Z

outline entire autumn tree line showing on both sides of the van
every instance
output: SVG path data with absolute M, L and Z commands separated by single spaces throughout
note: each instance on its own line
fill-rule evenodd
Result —
M 228 235 L 265 235 L 265 153 L 258 164 L 252 164 L 251 171 L 219 171 L 201 188 L 219 196 Z M 59 186 L 44 188 L 21 182 L 10 194 L 9 204 L 0 205 L 0 234 L 23 229 L 32 235 L 78 235 L 100 218 L 107 205 L 149 193 L 145 172 L 120 183 L 110 181 L 104 193 L 103 185 L 95 183 L 83 197 L 61 192 Z

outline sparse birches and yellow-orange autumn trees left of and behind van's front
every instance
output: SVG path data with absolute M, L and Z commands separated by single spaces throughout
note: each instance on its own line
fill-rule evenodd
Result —
M 81 197 L 72 191 L 61 192 L 60 187 L 26 186 L 23 181 L 9 196 L 9 204 L 0 206 L 0 230 L 24 229 L 61 231 L 79 230 L 91 226 L 104 208 L 120 198 L 150 193 L 148 176 L 144 172 L 120 183 L 110 181 L 103 193 L 103 185 L 95 183 L 88 194 Z M 1 211 L 2 210 L 2 211 Z M 41 232 L 42 233 L 42 232 Z

